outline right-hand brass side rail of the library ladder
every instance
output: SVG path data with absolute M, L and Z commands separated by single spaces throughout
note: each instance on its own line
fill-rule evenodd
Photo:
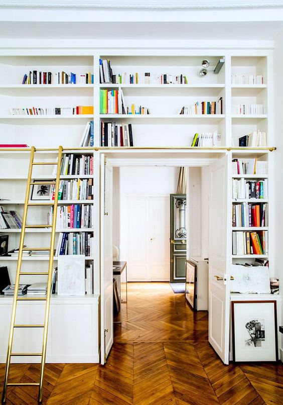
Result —
M 50 299 L 51 299 L 51 286 L 52 286 L 52 273 L 53 273 L 53 259 L 54 259 L 54 245 L 55 245 L 55 231 L 56 231 L 56 220 L 57 220 L 58 193 L 59 193 L 59 184 L 60 184 L 62 151 L 63 151 L 63 148 L 62 148 L 62 146 L 60 146 L 59 151 L 58 151 L 56 185 L 55 185 L 55 199 L 54 199 L 54 206 L 53 206 L 52 231 L 51 231 L 51 241 L 50 241 L 50 256 L 49 256 L 47 293 L 46 293 L 47 301 L 46 301 L 46 307 L 45 307 L 43 343 L 42 343 L 42 357 L 41 357 L 41 367 L 40 367 L 39 402 L 42 402 L 43 378 L 44 378 L 44 369 L 45 369 L 45 361 L 46 361 L 47 333 L 48 333 L 48 322 L 49 322 L 49 312 L 50 312 Z

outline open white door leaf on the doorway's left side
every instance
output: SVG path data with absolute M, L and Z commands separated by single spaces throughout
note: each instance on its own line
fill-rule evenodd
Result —
M 101 237 L 100 237 L 100 319 L 101 357 L 104 364 L 113 344 L 113 255 L 112 255 L 112 199 L 113 168 L 105 155 L 101 155 Z

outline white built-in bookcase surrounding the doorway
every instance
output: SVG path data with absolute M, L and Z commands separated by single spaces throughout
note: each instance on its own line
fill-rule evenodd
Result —
M 57 51 L 58 52 L 58 51 Z M 77 147 L 86 123 L 89 120 L 94 121 L 94 147 L 99 147 L 100 142 L 100 122 L 130 123 L 133 132 L 133 145 L 141 148 L 137 150 L 119 151 L 111 149 L 112 156 L 115 153 L 123 153 L 124 157 L 135 158 L 143 157 L 143 148 L 168 147 L 184 148 L 190 147 L 194 134 L 196 132 L 213 132 L 221 134 L 221 147 L 238 146 L 238 140 L 243 135 L 253 131 L 264 131 L 267 134 L 267 146 L 276 146 L 273 139 L 273 115 L 272 115 L 272 64 L 271 53 L 267 50 L 190 50 L 171 52 L 167 50 L 138 50 L 129 55 L 127 50 L 94 50 L 84 52 L 71 50 L 68 55 L 58 56 L 56 52 L 50 51 L 49 55 L 0 55 L 0 140 L 1 144 L 7 143 L 26 143 L 37 148 L 57 148 L 59 144 L 63 147 Z M 187 53 L 187 54 L 186 54 Z M 188 55 L 189 54 L 189 55 Z M 209 59 L 215 63 L 219 58 L 225 57 L 225 63 L 219 74 L 208 73 L 205 77 L 200 77 L 199 70 L 201 61 Z M 152 82 L 138 84 L 113 84 L 99 82 L 99 58 L 109 59 L 114 74 L 118 73 L 139 73 L 151 72 L 152 77 L 161 73 L 186 74 L 188 84 L 159 84 Z M 52 71 L 56 74 L 58 71 L 94 74 L 93 84 L 21 84 L 25 73 L 30 70 Z M 9 75 L 8 75 L 9 72 Z M 262 75 L 263 82 L 256 84 L 232 83 L 232 75 Z M 7 79 L 8 77 L 8 79 Z M 102 115 L 99 111 L 99 90 L 100 89 L 122 89 L 127 105 L 143 105 L 150 108 L 150 115 Z M 219 97 L 223 98 L 223 114 L 219 115 L 180 115 L 183 106 L 191 106 L 201 100 L 217 101 Z M 262 104 L 262 115 L 236 115 L 233 114 L 233 106 L 239 104 Z M 94 106 L 93 115 L 79 116 L 13 116 L 10 114 L 11 108 L 22 108 L 24 106 L 44 106 L 44 107 L 72 107 L 77 105 Z M 268 109 L 267 109 L 268 106 Z M 68 153 L 72 151 L 68 151 Z M 170 152 L 170 154 L 169 154 Z M 177 153 L 178 152 L 178 153 Z M 176 153 L 171 150 L 159 150 L 158 158 L 165 156 L 170 159 L 173 155 L 185 157 L 190 154 L 191 159 L 195 159 L 200 165 L 201 159 L 212 161 L 220 156 L 222 151 L 205 151 L 195 148 L 195 150 L 178 150 Z M 56 151 L 42 151 L 41 159 L 46 161 L 55 161 Z M 99 170 L 100 153 L 82 149 L 74 153 L 92 154 L 94 157 L 94 175 L 65 175 L 61 179 L 92 178 L 94 181 L 95 196 L 93 200 L 59 201 L 59 205 L 68 204 L 90 204 L 93 206 L 93 227 L 88 229 L 58 229 L 59 232 L 93 232 L 94 235 L 94 255 L 86 257 L 86 262 L 94 264 L 94 285 L 95 294 L 93 297 L 52 297 L 53 302 L 59 302 L 61 306 L 75 306 L 80 302 L 82 311 L 89 302 L 92 306 L 90 313 L 81 318 L 86 322 L 86 329 L 91 328 L 92 334 L 95 332 L 97 346 L 89 347 L 94 357 L 98 358 L 98 306 L 100 294 L 100 269 L 99 269 Z M 154 151 L 151 151 L 154 154 Z M 167 154 L 166 154 L 167 153 Z M 268 181 L 268 197 L 261 199 L 260 204 L 268 205 L 269 222 L 268 227 L 256 228 L 256 230 L 268 232 L 268 254 L 262 255 L 232 255 L 232 233 L 254 231 L 255 227 L 235 227 L 232 228 L 232 220 L 229 226 L 229 263 L 236 262 L 251 263 L 255 258 L 264 258 L 269 261 L 270 274 L 274 274 L 274 228 L 273 228 L 273 182 L 272 182 L 272 157 L 268 152 L 260 151 L 237 151 L 226 152 L 231 154 L 231 162 L 234 158 L 248 159 L 258 158 L 266 160 L 268 163 L 267 174 L 234 174 L 234 179 L 244 178 L 245 180 L 266 179 Z M 150 155 L 148 155 L 150 156 Z M 9 210 L 16 210 L 22 213 L 24 205 L 24 195 L 26 189 L 26 180 L 29 164 L 29 151 L 5 151 L 0 150 L 0 198 L 9 198 L 9 200 L 0 201 L 0 206 L 7 207 Z M 9 170 L 7 170 L 9 167 Z M 55 178 L 48 168 L 38 167 L 35 179 L 53 179 Z M 257 200 L 248 198 L 233 199 L 232 193 L 229 197 L 229 210 L 232 204 L 258 203 Z M 38 223 L 46 219 L 48 208 L 33 209 L 34 219 Z M 36 223 L 36 222 L 35 222 Z M 34 241 L 40 241 L 39 245 L 44 245 L 48 238 L 49 229 L 30 229 L 27 232 L 27 244 L 33 244 Z M 20 230 L 0 230 L 0 234 L 9 234 L 9 244 L 16 247 L 19 243 Z M 57 260 L 55 257 L 54 260 Z M 30 256 L 23 257 L 23 262 L 30 269 L 38 268 L 38 265 L 46 265 L 48 257 Z M 2 266 L 9 265 L 12 274 L 15 274 L 17 257 L 0 257 Z M 39 279 L 41 281 L 41 279 Z M 1 297 L 3 298 L 3 297 Z M 6 297 L 7 298 L 7 297 Z M 92 299 L 93 298 L 93 299 Z M 266 299 L 266 296 L 264 296 Z M 10 298 L 7 298 L 7 302 Z M 84 300 L 85 299 L 85 300 Z M 254 299 L 254 298 L 253 298 Z M 0 302 L 6 302 L 1 299 Z M 87 310 L 88 311 L 88 310 Z M 71 315 L 70 315 L 71 317 Z M 88 318 L 87 318 L 88 317 Z M 90 322 L 91 320 L 91 322 Z M 54 321 L 54 325 L 56 322 Z M 53 325 L 51 325 L 53 328 Z M 55 333 L 55 332 L 54 332 Z M 85 330 L 87 334 L 87 330 Z M 51 329 L 52 334 L 52 329 Z M 96 345 L 96 343 L 95 343 Z M 2 346 L 5 346 L 5 342 Z M 97 353 L 96 353 L 96 352 Z M 95 354 L 95 353 L 96 354 Z M 57 353 L 58 354 L 58 353 Z M 2 355 L 2 354 L 1 354 Z M 59 354 L 58 354 L 59 356 Z M 82 354 L 78 358 L 84 361 Z M 56 356 L 55 356 L 56 357 Z M 53 357 L 52 359 L 54 360 Z M 93 357 L 93 358 L 94 358 Z M 59 357 L 57 357 L 59 358 Z M 65 360 L 72 361 L 69 357 Z M 98 361 L 98 360 L 97 360 Z

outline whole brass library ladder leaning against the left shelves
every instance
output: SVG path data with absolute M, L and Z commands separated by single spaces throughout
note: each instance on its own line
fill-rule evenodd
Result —
M 47 332 L 48 332 L 48 319 L 49 319 L 49 310 L 50 310 L 50 295 L 51 295 L 51 284 L 52 284 L 52 271 L 53 271 L 53 255 L 54 255 L 54 244 L 55 244 L 55 230 L 56 230 L 56 218 L 57 218 L 57 206 L 58 206 L 58 191 L 59 191 L 59 182 L 60 182 L 60 169 L 61 169 L 61 157 L 62 157 L 62 146 L 58 149 L 58 162 L 35 162 L 34 156 L 36 152 L 36 148 L 33 146 L 31 148 L 31 155 L 30 155 L 30 166 L 29 166 L 29 174 L 28 174 L 28 182 L 27 182 L 27 190 L 26 190 L 26 197 L 25 197 L 25 206 L 24 206 L 24 214 L 23 214 L 23 224 L 22 224 L 22 231 L 21 231 L 21 238 L 20 238 L 20 246 L 19 246 L 19 256 L 18 256 L 18 263 L 17 263 L 17 273 L 15 279 L 15 291 L 14 291 L 14 298 L 13 298 L 13 307 L 12 307 L 12 316 L 11 316 L 11 326 L 10 326 L 10 334 L 9 334 L 9 341 L 8 341 L 8 352 L 7 352 L 7 360 L 6 360 L 6 370 L 5 370 L 5 379 L 4 379 L 4 389 L 3 389 L 3 396 L 2 402 L 6 402 L 7 397 L 7 389 L 9 386 L 19 386 L 19 385 L 36 385 L 39 386 L 39 402 L 42 402 L 42 391 L 43 391 L 43 378 L 44 378 L 44 368 L 45 368 L 45 360 L 46 360 L 46 345 L 47 345 Z M 54 181 L 32 181 L 32 172 L 33 167 L 36 165 L 57 165 L 57 174 L 56 180 Z M 54 200 L 48 203 L 31 203 L 30 198 L 30 187 L 31 185 L 36 184 L 46 184 L 46 185 L 54 185 L 55 184 L 55 198 Z M 53 207 L 53 220 L 52 225 L 26 225 L 27 223 L 27 214 L 28 208 L 31 206 L 52 206 Z M 24 248 L 24 239 L 26 229 L 28 228 L 52 228 L 51 230 L 51 242 L 49 248 Z M 49 267 L 48 272 L 21 272 L 22 267 L 22 256 L 23 251 L 27 250 L 34 250 L 34 251 L 49 251 Z M 18 296 L 19 292 L 19 284 L 20 284 L 20 277 L 23 275 L 45 275 L 47 276 L 47 294 L 46 297 L 25 297 L 25 296 Z M 17 311 L 17 304 L 18 301 L 46 301 L 45 304 L 45 317 L 44 317 L 44 324 L 42 325 L 20 325 L 15 324 L 16 320 L 16 311 Z M 41 353 L 13 353 L 12 346 L 13 346 L 13 336 L 15 328 L 43 328 L 43 339 L 42 339 L 42 352 Z M 41 357 L 41 367 L 40 367 L 40 381 L 39 382 L 9 382 L 9 371 L 11 365 L 11 357 L 17 356 L 39 356 Z

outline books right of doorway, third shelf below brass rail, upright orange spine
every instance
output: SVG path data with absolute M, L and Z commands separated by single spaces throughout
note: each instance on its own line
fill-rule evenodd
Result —
M 233 227 L 266 227 L 268 225 L 268 205 L 241 203 L 232 206 Z

